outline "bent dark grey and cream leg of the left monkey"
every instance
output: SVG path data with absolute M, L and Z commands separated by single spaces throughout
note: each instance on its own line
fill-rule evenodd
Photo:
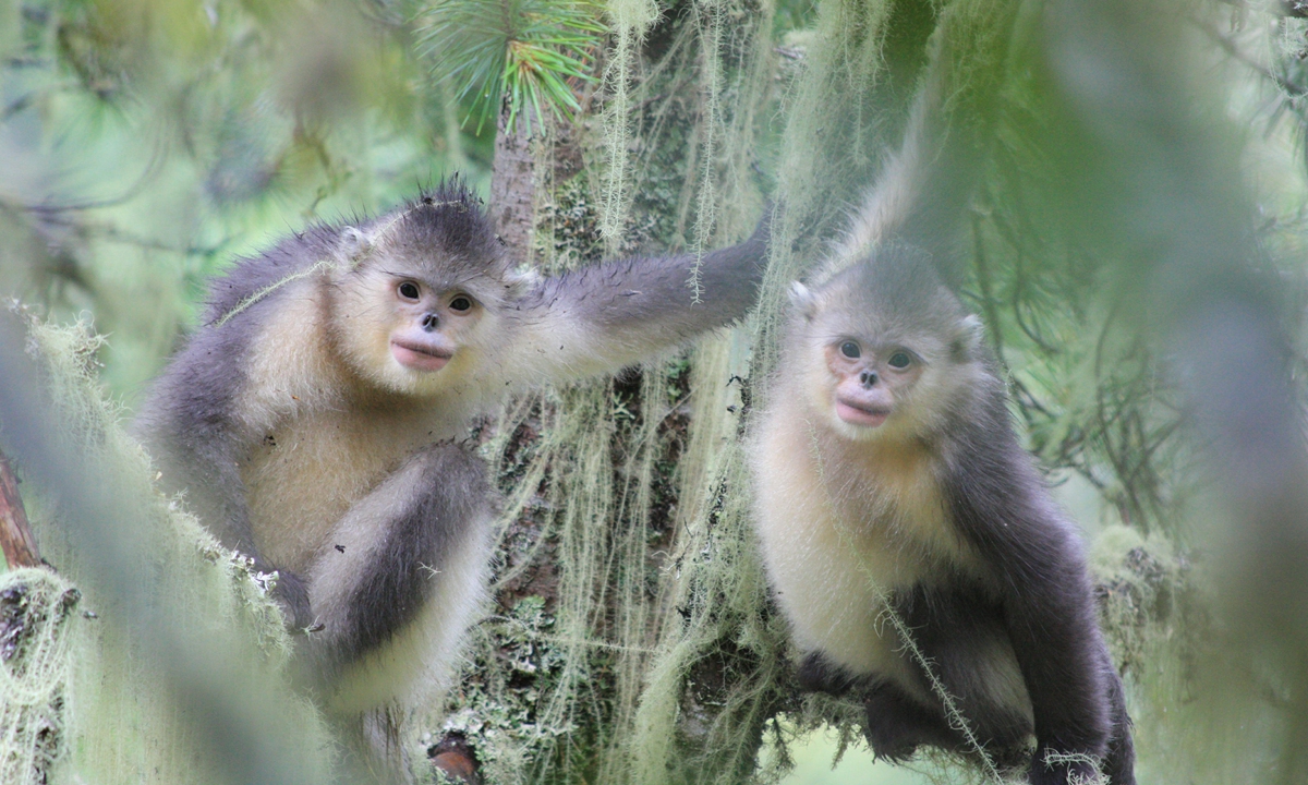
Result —
M 337 522 L 307 576 L 323 628 L 302 646 L 332 713 L 415 706 L 443 691 L 485 590 L 490 500 L 484 463 L 439 444 Z

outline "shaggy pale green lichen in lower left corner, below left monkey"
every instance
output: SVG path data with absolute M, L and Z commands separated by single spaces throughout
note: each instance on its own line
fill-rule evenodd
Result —
M 25 689 L 0 691 L 0 717 L 7 721 L 0 734 L 0 760 L 5 761 L 0 771 L 13 773 L 9 764 L 31 760 L 34 750 L 18 746 L 31 739 L 18 734 L 42 730 L 27 724 L 34 709 L 47 714 L 46 730 L 38 734 L 41 743 L 60 738 L 59 761 L 48 780 L 37 771 L 18 771 L 18 777 L 5 782 L 78 782 L 92 776 L 103 782 L 224 781 L 224 767 L 201 752 L 213 747 L 188 738 L 196 727 L 208 726 L 212 714 L 179 699 L 170 671 L 160 669 L 166 657 L 182 659 L 183 670 L 221 680 L 228 695 L 243 696 L 241 704 L 249 712 L 243 718 L 249 727 L 268 734 L 283 761 L 279 767 L 300 769 L 283 781 L 328 781 L 337 764 L 332 741 L 318 709 L 290 691 L 286 665 L 292 640 L 268 597 L 266 576 L 246 557 L 222 548 L 177 498 L 156 489 L 158 471 L 169 467 L 150 466 L 123 428 L 120 404 L 101 389 L 94 358 L 101 343 L 85 323 L 58 327 L 33 322 L 29 335 L 29 351 L 44 372 L 43 392 L 60 441 L 93 468 L 132 519 L 135 529 L 114 529 L 114 536 L 135 546 L 136 569 L 119 581 L 131 585 L 143 602 L 128 602 L 122 590 L 97 580 L 107 557 L 73 546 L 71 530 L 76 525 L 67 519 L 69 512 L 63 505 L 52 504 L 59 492 L 25 481 L 24 496 L 42 556 L 59 565 L 60 576 L 44 584 L 71 581 L 81 590 L 81 599 L 61 625 L 33 624 L 31 635 L 43 637 L 26 644 L 25 657 L 31 659 L 24 667 L 42 683 L 20 680 L 17 686 Z M 106 512 L 105 519 L 94 523 L 112 527 L 119 521 Z M 24 576 L 7 573 L 0 582 L 13 589 L 14 580 Z M 41 597 L 33 594 L 33 599 Z M 167 640 L 139 635 L 152 628 L 141 615 L 166 619 L 173 635 L 165 636 Z M 171 674 L 177 676 L 177 671 Z M 9 675 L 0 682 L 13 684 Z M 199 684 L 195 680 L 190 687 L 203 689 Z M 24 705 L 33 688 L 51 696 L 54 712 Z M 190 693 L 192 701 L 195 696 Z M 48 756 L 48 751 L 35 752 Z

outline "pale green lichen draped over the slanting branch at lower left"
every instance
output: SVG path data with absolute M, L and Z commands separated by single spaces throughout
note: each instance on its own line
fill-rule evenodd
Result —
M 156 470 L 124 433 L 119 404 L 105 396 L 97 381 L 95 352 L 103 339 L 84 324 L 33 323 L 30 335 L 30 351 L 47 369 L 44 390 L 59 430 L 143 527 L 148 567 L 132 578 L 149 598 L 150 612 L 184 620 L 191 635 L 205 636 L 213 657 L 233 666 L 246 663 L 250 682 L 233 680 L 230 689 L 262 689 L 262 697 L 269 700 L 279 695 L 273 701 L 277 716 L 268 720 L 279 724 L 285 738 L 273 744 L 285 742 L 281 750 L 301 761 L 306 777 L 326 781 L 335 752 L 317 709 L 290 692 L 281 675 L 290 640 L 267 586 L 260 584 L 263 577 L 249 560 L 218 546 L 178 500 L 154 489 Z M 34 483 L 22 488 L 42 556 L 58 565 L 61 577 L 4 573 L 7 589 L 17 584 L 26 587 L 31 627 L 24 636 L 31 638 L 22 642 L 21 658 L 12 661 L 24 663 L 24 671 L 7 670 L 3 676 L 8 686 L 0 689 L 0 760 L 24 767 L 24 761 L 56 756 L 50 771 L 55 782 L 85 781 L 92 772 L 103 782 L 215 781 L 216 772 L 186 735 L 195 727 L 188 713 L 194 709 L 149 667 L 149 648 L 164 642 L 129 635 L 124 604 L 92 578 L 97 574 L 94 560 L 102 556 L 69 546 L 63 513 L 52 504 L 59 498 L 55 489 Z M 61 614 L 60 598 L 68 595 L 69 585 L 82 597 L 77 612 Z M 41 706 L 56 701 L 63 722 L 42 720 L 46 709 Z M 43 724 L 48 725 L 46 733 Z M 56 738 L 59 743 L 50 746 Z M 25 780 L 7 776 L 5 782 L 10 781 Z

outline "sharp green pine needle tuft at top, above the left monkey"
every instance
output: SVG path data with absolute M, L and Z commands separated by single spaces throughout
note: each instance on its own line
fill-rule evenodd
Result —
M 530 128 L 545 110 L 569 120 L 581 110 L 574 90 L 595 81 L 606 30 L 599 12 L 590 0 L 433 0 L 420 17 L 419 46 L 436 77 L 470 103 L 479 133 L 501 102 L 505 128 L 519 115 Z

